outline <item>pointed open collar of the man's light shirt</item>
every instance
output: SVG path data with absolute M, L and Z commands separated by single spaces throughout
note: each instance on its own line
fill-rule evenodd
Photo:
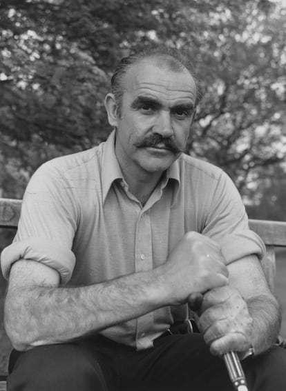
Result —
M 179 158 L 180 159 L 180 158 Z M 169 179 L 172 179 L 175 182 L 175 191 L 174 198 L 178 193 L 180 188 L 180 169 L 178 160 L 166 170 L 166 175 L 162 180 L 161 189 L 163 189 L 166 184 L 169 182 Z M 116 179 L 124 180 L 122 170 L 117 161 L 115 154 L 115 130 L 111 132 L 108 139 L 104 143 L 103 153 L 102 153 L 102 198 L 103 203 L 106 200 L 107 194 Z

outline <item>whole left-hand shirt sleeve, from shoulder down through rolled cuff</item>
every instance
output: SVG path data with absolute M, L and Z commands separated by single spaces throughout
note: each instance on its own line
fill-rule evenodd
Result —
M 28 183 L 15 239 L 1 254 L 1 269 L 8 279 L 13 263 L 37 261 L 59 272 L 61 283 L 75 268 L 73 239 L 77 230 L 77 205 L 65 175 L 46 163 Z

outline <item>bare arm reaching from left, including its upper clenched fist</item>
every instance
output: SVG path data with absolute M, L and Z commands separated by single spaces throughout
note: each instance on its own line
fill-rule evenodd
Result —
M 6 297 L 6 331 L 18 350 L 77 339 L 187 302 L 191 292 L 225 285 L 227 274 L 218 245 L 196 232 L 186 234 L 155 270 L 80 288 L 59 288 L 59 274 L 52 268 L 17 261 Z

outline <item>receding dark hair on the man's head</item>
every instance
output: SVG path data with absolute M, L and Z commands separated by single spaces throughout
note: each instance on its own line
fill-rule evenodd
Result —
M 117 114 L 121 115 L 124 77 L 126 73 L 135 63 L 140 63 L 140 61 L 148 58 L 164 61 L 166 66 L 169 66 L 170 70 L 175 72 L 187 69 L 196 83 L 197 94 L 195 106 L 198 106 L 198 103 L 202 99 L 202 88 L 189 55 L 186 52 L 182 52 L 182 50 L 169 48 L 168 46 L 151 46 L 128 57 L 124 57 L 115 69 L 111 78 L 111 91 L 115 95 L 117 102 Z

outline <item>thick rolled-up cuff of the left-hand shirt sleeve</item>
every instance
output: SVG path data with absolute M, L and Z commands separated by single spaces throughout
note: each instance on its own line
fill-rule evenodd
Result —
M 1 253 L 3 277 L 9 278 L 12 264 L 20 259 L 41 262 L 57 270 L 63 284 L 68 282 L 75 267 L 75 254 L 70 249 L 55 245 L 45 239 L 30 237 L 12 243 L 3 250 Z

